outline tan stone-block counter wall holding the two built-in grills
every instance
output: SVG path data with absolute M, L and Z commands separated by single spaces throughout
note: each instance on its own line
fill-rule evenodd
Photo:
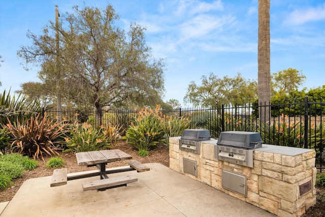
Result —
M 314 150 L 304 149 L 300 154 L 288 156 L 261 148 L 253 152 L 254 167 L 250 168 L 215 159 L 217 140 L 201 142 L 201 154 L 196 154 L 180 150 L 179 139 L 170 138 L 170 168 L 179 173 L 278 216 L 301 216 L 316 203 Z M 184 173 L 183 158 L 197 162 L 198 177 Z M 247 177 L 247 197 L 222 188 L 222 169 Z M 312 183 L 311 190 L 300 195 L 300 185 L 308 181 Z

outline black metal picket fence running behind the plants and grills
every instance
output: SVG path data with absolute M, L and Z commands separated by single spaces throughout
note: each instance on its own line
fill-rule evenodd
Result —
M 305 97 L 296 102 L 283 102 L 272 105 L 219 105 L 216 107 L 180 108 L 161 110 L 161 115 L 184 117 L 190 121 L 191 129 L 207 129 L 213 138 L 218 138 L 223 131 L 250 131 L 261 133 L 266 144 L 310 148 L 316 150 L 318 168 L 325 163 L 325 115 L 322 99 L 311 100 Z M 270 115 L 265 122 L 258 118 L 258 111 L 270 108 Z M 137 111 L 103 111 L 102 116 L 95 117 L 95 111 L 64 110 L 59 115 L 56 111 L 47 111 L 53 118 L 61 116 L 66 122 L 88 123 L 103 126 L 108 124 L 127 128 L 137 115 Z M 323 156 L 322 156 L 323 155 Z

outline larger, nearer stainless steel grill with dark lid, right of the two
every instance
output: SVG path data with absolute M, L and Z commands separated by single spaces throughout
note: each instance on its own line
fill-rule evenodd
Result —
M 214 158 L 253 167 L 253 150 L 262 147 L 261 135 L 254 132 L 221 132 L 214 148 Z

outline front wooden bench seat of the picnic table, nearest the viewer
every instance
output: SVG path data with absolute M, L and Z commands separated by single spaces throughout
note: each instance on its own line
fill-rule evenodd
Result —
M 106 178 L 100 180 L 94 180 L 85 182 L 82 184 L 83 191 L 104 189 L 108 187 L 114 187 L 116 185 L 127 184 L 138 181 L 138 178 L 134 175 L 118 176 L 113 178 Z

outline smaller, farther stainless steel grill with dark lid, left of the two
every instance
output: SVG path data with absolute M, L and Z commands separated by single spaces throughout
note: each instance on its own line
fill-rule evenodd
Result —
M 191 129 L 184 130 L 179 140 L 179 149 L 200 154 L 201 141 L 210 140 L 210 132 L 208 130 Z

